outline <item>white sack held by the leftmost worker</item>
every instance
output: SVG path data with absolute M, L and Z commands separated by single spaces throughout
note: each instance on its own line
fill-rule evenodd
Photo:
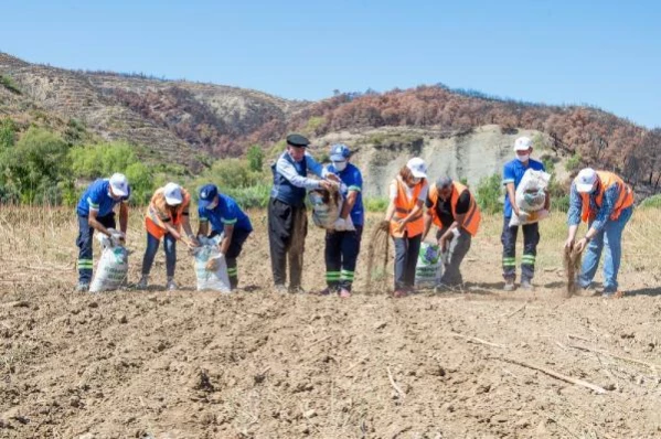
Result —
M 128 275 L 128 251 L 115 236 L 116 231 L 109 228 L 113 237 L 102 233 L 97 239 L 102 244 L 102 257 L 96 266 L 89 292 L 111 291 L 119 289 Z

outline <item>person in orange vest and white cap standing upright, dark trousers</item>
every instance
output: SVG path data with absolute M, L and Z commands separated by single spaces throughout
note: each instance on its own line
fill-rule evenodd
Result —
M 385 214 L 395 242 L 395 291 L 399 298 L 413 292 L 415 266 L 420 250 L 425 223 L 423 204 L 427 199 L 427 165 L 420 158 L 411 159 L 390 186 Z

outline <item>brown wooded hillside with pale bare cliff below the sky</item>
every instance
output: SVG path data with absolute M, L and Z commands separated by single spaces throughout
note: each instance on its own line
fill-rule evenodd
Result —
M 434 170 L 477 182 L 498 171 L 508 146 L 525 132 L 540 135 L 556 160 L 573 157 L 621 173 L 643 196 L 659 192 L 661 182 L 661 130 L 591 107 L 503 100 L 443 85 L 303 103 L 221 85 L 74 72 L 3 53 L 0 75 L 0 115 L 60 130 L 76 119 L 94 136 L 140 144 L 152 160 L 194 172 L 210 158 L 243 156 L 250 144 L 275 154 L 273 146 L 288 131 L 301 131 L 318 148 L 338 140 L 360 146 L 367 167 L 373 157 L 391 157 L 394 169 L 420 151 Z M 379 160 L 367 173 L 384 172 Z M 381 193 L 381 182 L 370 184 Z

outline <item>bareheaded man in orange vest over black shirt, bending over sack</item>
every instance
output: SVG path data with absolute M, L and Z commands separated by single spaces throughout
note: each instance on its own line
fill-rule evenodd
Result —
M 463 279 L 459 267 L 480 227 L 480 208 L 468 188 L 448 176 L 438 179 L 429 188 L 426 205 L 423 239 L 427 237 L 434 223 L 438 227 L 436 238 L 441 254 L 448 255 L 444 258 L 440 286 L 461 286 Z

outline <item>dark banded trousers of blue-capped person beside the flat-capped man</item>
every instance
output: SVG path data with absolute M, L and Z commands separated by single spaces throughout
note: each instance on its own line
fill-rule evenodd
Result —
M 344 288 L 351 291 L 362 235 L 363 226 L 355 226 L 355 231 L 326 233 L 326 283 L 330 290 Z

